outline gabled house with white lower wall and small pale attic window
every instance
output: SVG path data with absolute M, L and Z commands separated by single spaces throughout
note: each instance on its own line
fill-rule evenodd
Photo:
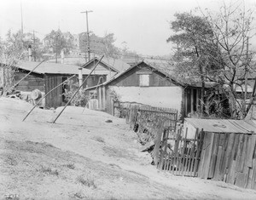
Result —
M 166 63 L 143 60 L 119 73 L 117 77 L 95 88 L 98 109 L 112 113 L 113 95 L 116 95 L 120 101 L 175 108 L 182 117 L 198 111 L 201 85 L 177 81 L 172 76 L 173 71 L 166 69 Z

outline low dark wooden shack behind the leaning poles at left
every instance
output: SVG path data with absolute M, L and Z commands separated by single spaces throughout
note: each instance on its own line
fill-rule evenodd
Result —
M 35 66 L 38 66 L 39 62 L 22 61 L 16 65 L 15 71 L 15 83 L 18 83 L 27 73 L 32 71 Z M 90 70 L 83 69 L 83 78 L 87 77 Z M 54 89 L 57 85 L 64 82 L 68 77 L 75 74 L 79 74 L 79 66 L 61 65 L 57 63 L 44 62 L 38 66 L 32 73 L 22 80 L 16 87 L 17 90 L 23 92 L 32 92 L 34 89 L 38 89 L 44 94 L 49 90 Z M 85 87 L 92 87 L 98 83 L 103 83 L 107 80 L 107 74 L 104 72 L 95 72 L 91 75 L 86 83 Z M 73 82 L 78 82 L 78 77 L 73 77 Z M 65 85 L 52 91 L 45 99 L 45 108 L 64 106 L 66 104 L 65 97 L 62 95 L 65 92 Z

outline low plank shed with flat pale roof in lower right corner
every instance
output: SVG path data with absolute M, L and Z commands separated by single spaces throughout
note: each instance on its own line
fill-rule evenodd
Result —
M 203 138 L 198 177 L 256 190 L 256 121 L 185 119 Z

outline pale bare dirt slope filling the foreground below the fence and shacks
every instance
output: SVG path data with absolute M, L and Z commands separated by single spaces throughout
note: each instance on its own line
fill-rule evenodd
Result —
M 55 124 L 60 108 L 21 122 L 31 107 L 0 98 L 0 199 L 256 199 L 256 191 L 159 172 L 124 119 L 68 107 Z

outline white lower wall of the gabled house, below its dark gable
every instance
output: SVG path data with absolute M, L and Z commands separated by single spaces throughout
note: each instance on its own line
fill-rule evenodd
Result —
M 182 88 L 174 87 L 117 87 L 111 86 L 121 101 L 135 101 L 149 106 L 181 109 Z

